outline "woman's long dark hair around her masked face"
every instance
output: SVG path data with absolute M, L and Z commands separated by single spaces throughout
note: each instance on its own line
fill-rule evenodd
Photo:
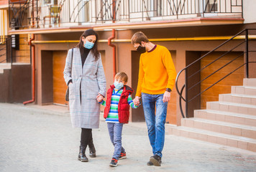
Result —
M 80 37 L 80 42 L 76 45 L 80 50 L 83 48 L 83 40 L 82 37 L 88 37 L 90 35 L 95 35 L 96 36 L 96 41 L 94 42 L 93 48 L 91 49 L 91 52 L 93 53 L 95 59 L 99 58 L 99 51 L 98 51 L 98 34 L 93 29 L 87 29 L 85 32 Z

